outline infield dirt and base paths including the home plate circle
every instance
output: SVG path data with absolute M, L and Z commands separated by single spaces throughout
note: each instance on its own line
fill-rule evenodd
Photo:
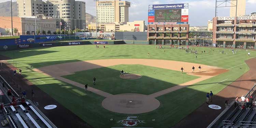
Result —
M 224 73 L 228 70 L 220 69 L 213 66 L 200 65 L 196 63 L 189 62 L 180 62 L 180 61 L 171 61 L 171 60 L 154 60 L 154 59 L 104 59 L 104 60 L 89 60 L 89 61 L 80 61 L 80 62 L 71 62 L 71 63 L 62 63 L 58 65 L 47 66 L 39 69 L 34 69 L 41 73 L 45 73 L 49 76 L 55 77 L 56 79 L 72 84 L 74 86 L 84 88 L 83 84 L 65 79 L 61 76 L 70 75 L 74 72 L 85 71 L 89 69 L 109 67 L 115 65 L 145 65 L 158 67 L 163 69 L 181 71 L 181 67 L 184 68 L 184 72 L 189 75 L 199 76 L 200 78 L 170 87 L 165 90 L 158 91 L 157 93 L 151 95 L 141 95 L 141 94 L 118 94 L 112 95 L 101 91 L 96 88 L 88 87 L 89 91 L 96 93 L 98 95 L 106 97 L 102 101 L 102 106 L 112 112 L 125 113 L 125 114 L 139 114 L 146 113 L 157 109 L 160 106 L 160 102 L 155 99 L 158 96 L 165 95 L 172 91 L 175 91 L 180 88 L 195 84 L 197 82 L 209 79 L 218 74 Z M 201 66 L 202 72 L 200 73 L 191 73 L 192 67 Z M 153 72 L 153 71 L 152 71 Z

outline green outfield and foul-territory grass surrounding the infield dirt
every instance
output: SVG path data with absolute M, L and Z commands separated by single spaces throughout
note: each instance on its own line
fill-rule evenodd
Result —
M 218 50 L 223 51 L 223 48 L 213 48 L 214 52 L 210 54 L 199 52 L 196 59 L 195 55 L 186 54 L 185 51 L 166 49 L 166 52 L 164 52 L 164 49 L 155 49 L 155 46 L 151 45 L 107 45 L 107 47 L 108 48 L 96 49 L 95 45 L 82 45 L 31 48 L 0 52 L 0 54 L 12 58 L 9 62 L 23 69 L 23 75 L 26 79 L 30 80 L 33 84 L 37 85 L 48 95 L 52 96 L 63 106 L 70 109 L 95 128 L 102 128 L 103 126 L 122 127 L 122 125 L 117 122 L 118 120 L 125 119 L 126 116 L 139 116 L 139 120 L 144 120 L 145 123 L 139 124 L 137 127 L 169 128 L 204 103 L 205 93 L 212 90 L 214 94 L 217 94 L 232 81 L 248 71 L 248 66 L 241 64 L 245 63 L 244 60 L 256 56 L 256 52 L 250 50 L 251 56 L 249 57 L 245 50 L 238 50 L 236 55 L 232 55 L 232 52 L 226 49 L 225 53 L 228 52 L 228 55 L 226 55 L 217 52 Z M 199 51 L 205 50 L 207 53 L 210 50 L 210 48 L 203 47 L 195 49 Z M 147 53 L 150 53 L 150 57 L 147 56 Z M 101 106 L 104 97 L 94 93 L 84 94 L 84 89 L 61 82 L 53 77 L 34 72 L 29 68 L 29 66 L 40 68 L 58 63 L 117 58 L 176 60 L 231 69 L 229 69 L 229 72 L 212 77 L 211 79 L 157 97 L 161 105 L 155 111 L 144 114 L 127 115 L 105 110 Z M 241 66 L 234 67 L 237 65 Z M 42 83 L 34 78 L 46 83 Z M 216 84 L 226 79 L 231 80 L 225 81 L 223 84 Z M 111 122 L 110 118 L 114 118 L 114 120 Z M 155 119 L 155 122 L 153 122 L 152 119 Z

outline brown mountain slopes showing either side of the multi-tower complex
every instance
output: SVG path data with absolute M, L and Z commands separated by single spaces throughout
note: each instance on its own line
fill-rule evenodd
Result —
M 12 14 L 13 16 L 18 16 L 17 2 L 12 2 Z M 0 16 L 11 16 L 11 1 L 0 3 Z M 85 13 L 86 26 L 90 23 L 95 23 L 95 16 Z

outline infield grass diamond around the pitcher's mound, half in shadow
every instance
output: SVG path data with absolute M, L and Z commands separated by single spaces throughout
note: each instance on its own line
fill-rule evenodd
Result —
M 127 80 L 119 77 L 124 70 L 132 74 L 140 74 L 142 77 L 136 80 Z M 92 78 L 96 77 L 96 85 L 92 85 Z M 89 86 L 116 95 L 124 93 L 137 93 L 150 95 L 194 79 L 194 75 L 181 74 L 179 71 L 161 69 L 143 65 L 116 65 L 104 68 L 75 72 L 75 74 L 62 76 L 81 84 L 89 83 Z

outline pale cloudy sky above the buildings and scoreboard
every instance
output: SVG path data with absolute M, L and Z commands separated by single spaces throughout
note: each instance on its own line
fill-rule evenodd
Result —
M 11 0 L 0 0 L 1 2 Z M 16 1 L 16 0 L 13 0 Z M 45 1 L 45 0 L 44 0 Z M 95 15 L 95 2 L 93 0 L 76 0 L 86 2 L 86 12 Z M 208 20 L 215 16 L 215 0 L 127 0 L 131 2 L 129 8 L 129 21 L 145 20 L 147 24 L 148 5 L 167 3 L 188 3 L 190 26 L 207 26 Z M 256 0 L 246 0 L 246 14 L 256 12 Z M 229 16 L 229 8 L 218 8 L 217 16 Z

